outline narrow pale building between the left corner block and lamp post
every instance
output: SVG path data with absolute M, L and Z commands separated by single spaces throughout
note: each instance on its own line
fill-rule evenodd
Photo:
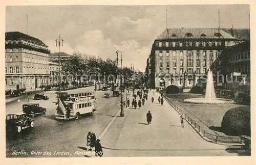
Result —
M 59 76 L 59 64 L 55 62 L 49 62 L 49 85 L 57 85 Z

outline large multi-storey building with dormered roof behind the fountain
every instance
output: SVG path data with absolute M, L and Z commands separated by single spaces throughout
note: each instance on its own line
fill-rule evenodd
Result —
M 166 29 L 155 39 L 147 66 L 150 87 L 190 88 L 237 39 L 220 29 Z

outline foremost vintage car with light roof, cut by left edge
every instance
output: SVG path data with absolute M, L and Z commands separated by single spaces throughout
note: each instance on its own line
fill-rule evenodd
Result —
M 23 129 L 33 128 L 34 120 L 29 118 L 26 113 L 18 112 L 6 116 L 6 132 L 20 133 Z

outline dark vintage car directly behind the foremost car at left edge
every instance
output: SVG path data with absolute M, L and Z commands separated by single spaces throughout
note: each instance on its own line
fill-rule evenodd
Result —
M 46 108 L 39 106 L 38 103 L 23 104 L 22 109 L 24 113 L 31 117 L 38 114 L 46 114 Z

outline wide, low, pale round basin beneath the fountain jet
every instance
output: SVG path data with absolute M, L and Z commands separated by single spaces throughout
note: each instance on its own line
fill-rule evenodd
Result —
M 233 104 L 234 101 L 230 99 L 223 99 L 223 98 L 215 98 L 215 99 L 208 99 L 205 98 L 190 98 L 190 99 L 180 99 L 180 102 L 184 103 L 193 103 L 193 104 Z

